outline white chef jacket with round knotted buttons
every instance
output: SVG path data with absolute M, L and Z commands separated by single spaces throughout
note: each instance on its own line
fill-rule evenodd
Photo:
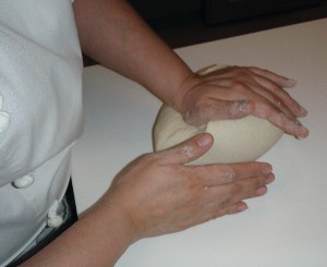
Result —
M 51 223 L 64 195 L 82 71 L 71 0 L 0 1 L 0 266 Z

